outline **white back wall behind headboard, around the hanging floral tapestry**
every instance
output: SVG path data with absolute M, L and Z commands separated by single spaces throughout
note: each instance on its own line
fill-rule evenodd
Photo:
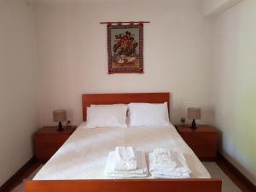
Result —
M 172 92 L 173 123 L 188 107 L 201 107 L 201 123 L 212 123 L 212 21 L 202 17 L 201 0 L 46 2 L 36 4 L 41 125 L 53 125 L 58 108 L 78 125 L 83 93 L 148 91 Z M 109 20 L 151 21 L 144 74 L 108 75 L 107 28 L 99 22 Z

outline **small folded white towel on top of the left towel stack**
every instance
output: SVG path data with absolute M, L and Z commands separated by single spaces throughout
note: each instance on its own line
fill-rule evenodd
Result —
M 132 147 L 116 147 L 114 170 L 132 171 L 137 169 L 136 150 Z

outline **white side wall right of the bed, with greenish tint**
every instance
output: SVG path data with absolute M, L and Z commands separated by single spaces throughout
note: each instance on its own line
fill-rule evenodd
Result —
M 223 153 L 256 184 L 256 1 L 216 18 L 215 112 Z

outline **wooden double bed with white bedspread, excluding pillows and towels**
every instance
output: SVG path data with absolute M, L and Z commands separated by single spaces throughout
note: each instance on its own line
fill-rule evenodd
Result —
M 91 104 L 130 102 L 167 102 L 169 93 L 85 94 L 82 96 L 83 119 Z M 182 151 L 191 169 L 189 179 L 109 179 L 104 174 L 108 152 L 118 145 L 131 145 L 149 152 L 155 147 Z M 26 181 L 26 192 L 100 192 L 100 191 L 221 191 L 221 180 L 211 178 L 207 169 L 183 142 L 173 125 L 170 127 L 96 128 L 79 125 L 73 135 L 43 166 L 32 181 Z

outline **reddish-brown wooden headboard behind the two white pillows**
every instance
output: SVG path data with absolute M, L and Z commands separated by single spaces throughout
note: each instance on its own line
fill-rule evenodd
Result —
M 86 121 L 86 108 L 91 104 L 129 104 L 131 102 L 168 103 L 170 108 L 170 93 L 109 93 L 109 94 L 83 94 L 83 119 Z

